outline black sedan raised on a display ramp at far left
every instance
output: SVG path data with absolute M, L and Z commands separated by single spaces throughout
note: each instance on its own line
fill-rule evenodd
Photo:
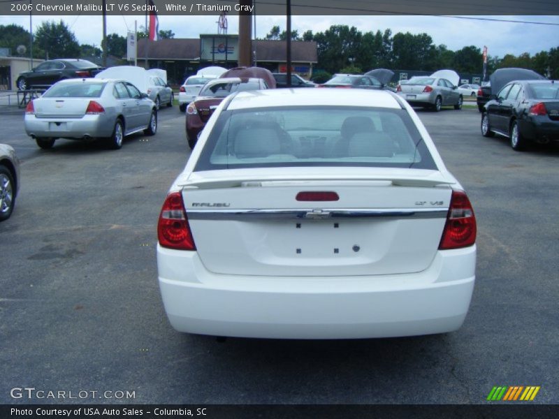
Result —
M 15 83 L 20 90 L 47 88 L 68 78 L 94 77 L 102 70 L 103 67 L 85 59 L 51 59 L 21 73 Z

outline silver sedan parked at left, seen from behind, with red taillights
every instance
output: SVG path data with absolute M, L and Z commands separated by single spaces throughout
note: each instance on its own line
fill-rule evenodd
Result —
M 125 135 L 157 132 L 157 108 L 125 80 L 61 80 L 29 102 L 24 125 L 42 149 L 51 148 L 57 138 L 106 138 L 119 149 Z

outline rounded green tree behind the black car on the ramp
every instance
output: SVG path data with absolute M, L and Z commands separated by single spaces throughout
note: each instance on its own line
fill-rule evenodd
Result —
M 41 23 L 35 43 L 45 51 L 45 59 L 80 57 L 80 44 L 62 20 Z

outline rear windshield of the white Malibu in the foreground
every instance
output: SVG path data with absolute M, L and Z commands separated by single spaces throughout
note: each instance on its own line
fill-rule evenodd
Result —
M 437 169 L 406 110 L 295 106 L 222 112 L 195 170 L 293 166 Z

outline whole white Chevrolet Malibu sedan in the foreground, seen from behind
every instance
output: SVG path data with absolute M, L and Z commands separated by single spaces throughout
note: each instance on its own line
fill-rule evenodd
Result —
M 402 98 L 242 92 L 198 142 L 158 225 L 176 330 L 342 339 L 463 324 L 474 212 Z

